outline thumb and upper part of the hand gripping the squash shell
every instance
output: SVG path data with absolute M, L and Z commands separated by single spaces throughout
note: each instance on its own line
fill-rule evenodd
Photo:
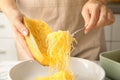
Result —
M 28 35 L 28 30 L 23 24 L 23 14 L 19 10 L 9 10 L 6 15 L 10 20 L 11 24 L 17 29 L 20 34 L 22 34 L 23 36 Z

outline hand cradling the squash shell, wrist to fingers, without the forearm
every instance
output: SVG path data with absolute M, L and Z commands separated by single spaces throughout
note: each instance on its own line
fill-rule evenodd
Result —
M 12 9 L 10 12 L 6 13 L 6 15 L 12 24 L 18 58 L 20 60 L 33 59 L 25 41 L 25 36 L 29 35 L 29 32 L 23 23 L 23 14 L 19 10 Z

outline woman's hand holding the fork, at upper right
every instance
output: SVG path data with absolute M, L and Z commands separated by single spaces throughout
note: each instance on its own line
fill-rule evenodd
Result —
M 85 20 L 85 33 L 93 28 L 103 27 L 114 22 L 114 16 L 105 3 L 98 0 L 89 0 L 83 6 L 82 16 Z

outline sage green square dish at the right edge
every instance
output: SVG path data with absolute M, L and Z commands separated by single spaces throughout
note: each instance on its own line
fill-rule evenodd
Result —
M 100 64 L 107 77 L 112 80 L 120 80 L 120 50 L 101 53 Z

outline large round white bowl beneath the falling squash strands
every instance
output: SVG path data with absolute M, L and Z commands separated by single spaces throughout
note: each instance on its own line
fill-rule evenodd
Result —
M 71 67 L 75 80 L 104 80 L 104 70 L 92 61 L 72 57 Z M 48 69 L 33 60 L 24 61 L 11 68 L 9 77 L 12 80 L 35 80 L 36 77 L 47 76 Z

